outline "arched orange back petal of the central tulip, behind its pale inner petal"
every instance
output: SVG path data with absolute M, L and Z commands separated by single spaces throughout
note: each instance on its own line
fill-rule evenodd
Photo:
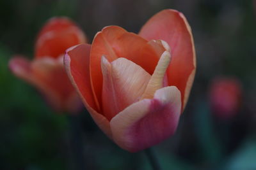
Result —
M 164 47 L 161 43 L 148 42 L 146 39 L 118 26 L 105 27 L 101 32 L 98 32 L 93 39 L 90 52 L 90 74 L 93 93 L 97 96 L 99 105 L 101 105 L 102 94 L 102 73 L 100 71 L 102 55 L 109 62 L 118 57 L 124 57 L 152 74 L 163 52 Z

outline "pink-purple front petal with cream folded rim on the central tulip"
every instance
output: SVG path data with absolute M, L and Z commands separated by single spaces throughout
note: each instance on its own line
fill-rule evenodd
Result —
M 111 120 L 113 139 L 129 152 L 156 145 L 175 132 L 180 109 L 180 91 L 177 87 L 159 89 L 154 99 L 134 103 Z

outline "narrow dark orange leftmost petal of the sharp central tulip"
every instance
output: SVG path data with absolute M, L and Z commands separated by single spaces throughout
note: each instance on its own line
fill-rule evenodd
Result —
M 111 138 L 109 121 L 97 112 L 97 106 L 93 99 L 90 84 L 89 55 L 90 45 L 84 44 L 69 48 L 64 58 L 65 69 L 93 120 Z

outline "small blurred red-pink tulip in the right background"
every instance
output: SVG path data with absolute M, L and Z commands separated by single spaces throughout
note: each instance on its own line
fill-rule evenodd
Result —
M 220 118 L 232 118 L 241 106 L 242 87 L 235 78 L 216 78 L 210 87 L 211 108 Z

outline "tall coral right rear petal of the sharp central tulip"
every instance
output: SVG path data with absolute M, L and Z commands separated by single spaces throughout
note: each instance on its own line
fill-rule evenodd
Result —
M 186 106 L 195 77 L 195 48 L 191 28 L 182 13 L 163 10 L 154 15 L 142 27 L 145 39 L 163 39 L 172 50 L 172 62 L 168 67 L 168 85 L 175 85 L 181 92 L 182 108 Z

